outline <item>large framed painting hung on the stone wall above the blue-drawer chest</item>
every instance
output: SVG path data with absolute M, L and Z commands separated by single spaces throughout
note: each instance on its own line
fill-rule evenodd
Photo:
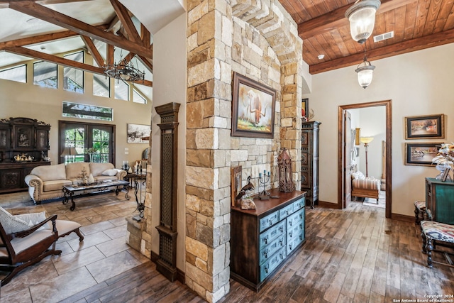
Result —
M 276 91 L 238 73 L 233 73 L 233 137 L 273 138 Z

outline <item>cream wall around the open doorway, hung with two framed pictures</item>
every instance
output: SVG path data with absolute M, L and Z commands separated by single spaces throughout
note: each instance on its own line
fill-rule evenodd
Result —
M 338 106 L 392 100 L 392 213 L 414 216 L 416 199 L 425 199 L 424 177 L 435 177 L 434 167 L 404 165 L 405 143 L 453 142 L 454 44 L 419 50 L 372 62 L 374 79 L 359 86 L 355 66 L 312 75 L 309 105 L 321 121 L 320 189 L 323 202 L 337 203 Z M 404 117 L 445 114 L 445 139 L 405 140 Z M 326 148 L 330 146 L 330 148 Z M 389 173 L 389 172 L 387 172 Z M 388 190 L 388 189 L 387 189 Z

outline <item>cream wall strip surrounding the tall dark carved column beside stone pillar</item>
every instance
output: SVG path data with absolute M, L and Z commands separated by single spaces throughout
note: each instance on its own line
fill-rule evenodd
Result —
M 181 104 L 178 119 L 178 206 L 177 206 L 177 268 L 184 271 L 186 220 L 184 201 L 186 182 L 186 13 L 155 33 L 153 43 L 153 116 L 152 116 L 152 221 L 159 225 L 160 203 L 160 128 L 161 119 L 155 107 L 170 102 Z M 159 253 L 159 235 L 153 226 L 152 250 Z

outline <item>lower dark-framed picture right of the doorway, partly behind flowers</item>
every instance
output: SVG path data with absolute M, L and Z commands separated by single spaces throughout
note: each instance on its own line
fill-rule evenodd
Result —
M 405 165 L 435 166 L 432 159 L 443 142 L 405 143 Z

